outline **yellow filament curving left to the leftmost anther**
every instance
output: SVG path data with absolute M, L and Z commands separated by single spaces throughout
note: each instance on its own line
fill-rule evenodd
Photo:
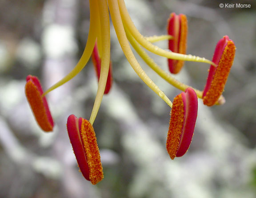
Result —
M 60 87 L 64 83 L 74 78 L 87 64 L 95 44 L 97 27 L 99 27 L 98 21 L 99 20 L 97 15 L 96 4 L 94 0 L 90 0 L 90 28 L 89 28 L 88 39 L 87 39 L 86 46 L 84 48 L 84 52 L 80 60 L 76 64 L 76 67 L 74 67 L 73 70 L 68 75 L 66 75 L 63 79 L 61 79 L 59 82 L 52 85 L 52 87 L 50 87 L 47 91 L 45 91 L 42 96 L 48 94 L 50 91 L 56 89 L 57 87 Z

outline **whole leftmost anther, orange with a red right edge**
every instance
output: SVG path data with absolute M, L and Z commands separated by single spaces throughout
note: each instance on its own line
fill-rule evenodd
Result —
M 43 95 L 43 89 L 36 76 L 28 75 L 25 85 L 25 94 L 38 125 L 42 130 L 52 131 L 54 123 L 48 103 Z

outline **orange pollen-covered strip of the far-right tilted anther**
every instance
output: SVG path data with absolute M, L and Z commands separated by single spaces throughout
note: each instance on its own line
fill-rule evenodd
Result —
M 230 69 L 233 64 L 233 60 L 235 58 L 235 52 L 236 46 L 232 40 L 229 40 L 221 55 L 210 88 L 206 95 L 203 97 L 203 102 L 205 105 L 214 105 L 222 95 Z

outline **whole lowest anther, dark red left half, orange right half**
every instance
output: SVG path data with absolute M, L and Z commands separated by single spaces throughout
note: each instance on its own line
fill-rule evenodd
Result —
M 70 115 L 67 122 L 68 136 L 80 171 L 84 178 L 96 184 L 103 179 L 100 151 L 91 123 Z

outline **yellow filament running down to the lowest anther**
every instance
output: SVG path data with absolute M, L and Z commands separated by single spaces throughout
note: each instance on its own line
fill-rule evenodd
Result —
M 90 117 L 90 123 L 93 124 L 96 119 L 96 115 L 100 108 L 100 103 L 104 95 L 110 62 L 110 24 L 109 24 L 109 13 L 107 0 L 95 0 L 98 3 L 98 10 L 100 15 L 100 29 L 101 29 L 101 49 L 102 59 L 100 68 L 100 79 L 98 90 L 95 98 L 95 102 L 92 108 L 92 114 Z

